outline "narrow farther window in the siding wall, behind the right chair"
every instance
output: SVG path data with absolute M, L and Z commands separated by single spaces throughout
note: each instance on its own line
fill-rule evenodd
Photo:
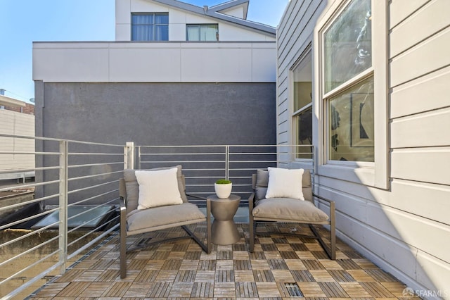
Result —
M 297 158 L 312 158 L 312 70 L 311 49 L 292 70 L 294 134 Z

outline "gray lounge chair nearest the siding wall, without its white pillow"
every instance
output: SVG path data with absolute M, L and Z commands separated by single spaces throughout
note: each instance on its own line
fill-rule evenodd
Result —
M 252 193 L 250 199 L 248 200 L 250 219 L 250 252 L 253 252 L 255 247 L 255 235 L 257 234 L 256 221 L 304 223 L 309 224 L 312 235 L 297 236 L 318 239 L 319 243 L 328 254 L 328 257 L 330 259 L 335 259 L 335 202 L 313 193 L 311 187 L 311 173 L 309 170 L 304 170 L 302 175 L 302 192 L 304 201 L 290 198 L 264 199 L 268 184 L 269 172 L 267 170 L 257 170 L 257 174 L 253 175 L 254 193 Z M 314 205 L 314 197 L 328 202 L 330 206 L 329 216 Z M 314 225 L 330 225 L 330 247 L 328 247 L 323 241 Z M 290 233 L 281 232 L 276 232 L 276 234 L 291 235 Z M 295 233 L 292 235 L 295 235 Z

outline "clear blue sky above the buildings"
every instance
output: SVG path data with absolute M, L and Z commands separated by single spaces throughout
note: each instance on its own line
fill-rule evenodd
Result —
M 289 0 L 250 0 L 248 20 L 276 27 Z M 184 0 L 203 7 L 226 0 Z M 0 0 L 0 89 L 34 97 L 32 42 L 113 41 L 115 0 Z

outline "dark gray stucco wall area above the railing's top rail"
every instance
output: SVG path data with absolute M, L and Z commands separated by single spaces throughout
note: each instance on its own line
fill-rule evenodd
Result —
M 140 145 L 276 143 L 275 83 L 45 83 L 40 96 L 36 125 L 45 137 Z

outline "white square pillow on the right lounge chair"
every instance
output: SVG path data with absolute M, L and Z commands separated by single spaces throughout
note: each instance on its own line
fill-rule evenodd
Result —
M 302 192 L 303 169 L 268 168 L 269 184 L 266 198 L 293 198 L 304 200 Z

